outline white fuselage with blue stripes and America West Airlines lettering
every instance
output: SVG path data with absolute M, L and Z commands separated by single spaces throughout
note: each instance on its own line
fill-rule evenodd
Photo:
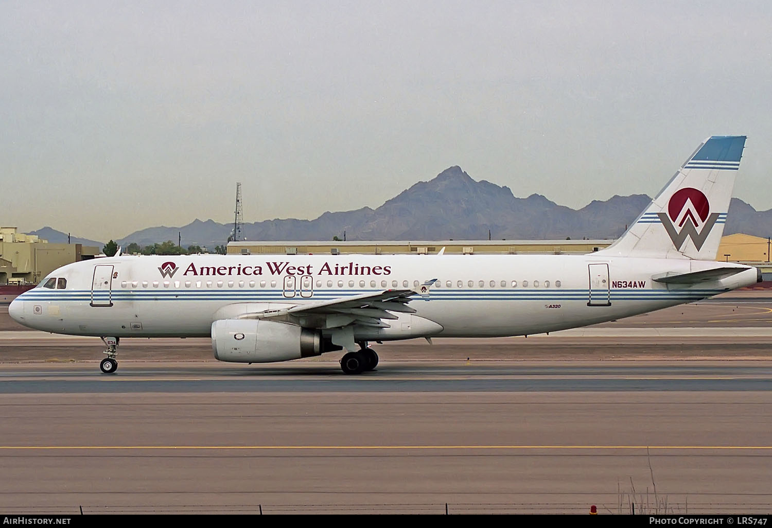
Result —
M 693 286 L 652 280 L 719 265 L 743 271 Z M 205 337 L 215 320 L 242 313 L 438 279 L 428 297 L 410 301 L 412 317 L 400 313 L 386 321 L 386 329 L 355 330 L 357 340 L 398 340 L 583 327 L 747 286 L 757 282 L 757 270 L 726 262 L 593 254 L 200 255 L 94 259 L 49 277 L 66 279 L 66 287 L 39 286 L 19 296 L 9 310 L 14 319 L 52 333 L 114 337 Z

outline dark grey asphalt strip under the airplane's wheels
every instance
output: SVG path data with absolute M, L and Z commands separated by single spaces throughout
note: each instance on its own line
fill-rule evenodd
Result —
M 772 362 L 723 364 L 522 365 L 512 361 L 384 362 L 346 376 L 337 364 L 220 367 L 207 364 L 126 364 L 112 376 L 96 364 L 0 370 L 0 394 L 114 393 L 376 393 L 770 391 Z

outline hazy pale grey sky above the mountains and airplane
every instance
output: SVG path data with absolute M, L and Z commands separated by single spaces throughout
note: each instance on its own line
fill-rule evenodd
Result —
M 580 208 L 714 134 L 772 208 L 772 2 L 0 2 L 0 224 L 378 207 L 452 165 Z M 452 207 L 452 204 L 449 204 Z

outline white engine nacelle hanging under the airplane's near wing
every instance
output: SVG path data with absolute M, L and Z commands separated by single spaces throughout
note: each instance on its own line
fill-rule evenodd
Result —
M 321 333 L 289 323 L 222 319 L 212 323 L 212 350 L 221 361 L 272 363 L 318 356 Z

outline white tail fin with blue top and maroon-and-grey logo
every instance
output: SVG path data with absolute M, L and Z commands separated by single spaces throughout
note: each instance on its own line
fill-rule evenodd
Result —
M 715 260 L 745 138 L 706 139 L 625 234 L 598 253 Z

